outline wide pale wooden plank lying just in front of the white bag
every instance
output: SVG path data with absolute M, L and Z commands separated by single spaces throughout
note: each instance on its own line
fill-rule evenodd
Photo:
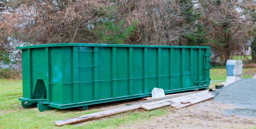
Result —
M 149 102 L 149 103 L 146 103 L 146 104 L 141 104 L 140 107 L 142 107 L 146 110 L 157 109 L 157 108 L 168 106 L 170 104 L 174 104 L 174 103 L 177 103 L 177 102 L 180 103 L 180 101 L 188 100 L 190 98 L 196 98 L 200 95 L 204 95 L 204 94 L 207 94 L 207 93 L 208 93 L 208 91 L 204 91 L 204 92 L 201 92 L 201 93 L 194 93 L 194 94 L 191 94 L 191 95 L 180 96 L 180 97 L 177 97 L 177 98 L 169 98 L 169 99 L 165 99 L 165 100 Z

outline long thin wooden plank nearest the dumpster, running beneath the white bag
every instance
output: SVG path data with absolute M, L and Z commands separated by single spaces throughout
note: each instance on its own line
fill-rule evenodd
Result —
M 130 105 L 135 105 L 135 104 L 143 104 L 143 103 L 148 103 L 148 102 L 152 102 L 152 101 L 159 101 L 159 100 L 163 100 L 163 99 L 174 98 L 174 97 L 179 97 L 179 96 L 183 96 L 183 95 L 190 95 L 190 94 L 200 93 L 200 92 L 204 92 L 204 91 L 194 91 L 194 92 L 187 92 L 187 93 L 170 94 L 170 95 L 166 95 L 166 97 L 163 97 L 163 98 L 155 98 L 155 99 L 150 99 L 150 100 L 145 100 L 145 101 L 133 102 L 133 103 L 129 103 L 126 105 L 130 106 Z

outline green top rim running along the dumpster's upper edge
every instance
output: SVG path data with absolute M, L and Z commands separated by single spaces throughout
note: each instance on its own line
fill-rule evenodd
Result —
M 132 47 L 132 48 L 206 48 L 199 46 L 168 46 L 168 45 L 120 45 L 120 44 L 87 44 L 87 43 L 60 43 L 60 44 L 45 44 L 45 45 L 30 45 L 17 47 L 17 49 L 28 49 L 28 48 L 47 48 L 47 47 Z

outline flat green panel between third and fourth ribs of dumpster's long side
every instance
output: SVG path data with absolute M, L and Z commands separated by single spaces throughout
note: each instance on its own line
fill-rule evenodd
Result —
M 116 48 L 117 97 L 129 95 L 128 48 Z

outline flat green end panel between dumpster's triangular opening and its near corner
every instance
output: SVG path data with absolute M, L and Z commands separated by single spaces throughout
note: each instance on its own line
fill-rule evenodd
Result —
M 51 102 L 56 104 L 63 104 L 61 55 L 61 47 L 54 47 L 50 49 L 51 83 L 56 83 L 51 86 Z

